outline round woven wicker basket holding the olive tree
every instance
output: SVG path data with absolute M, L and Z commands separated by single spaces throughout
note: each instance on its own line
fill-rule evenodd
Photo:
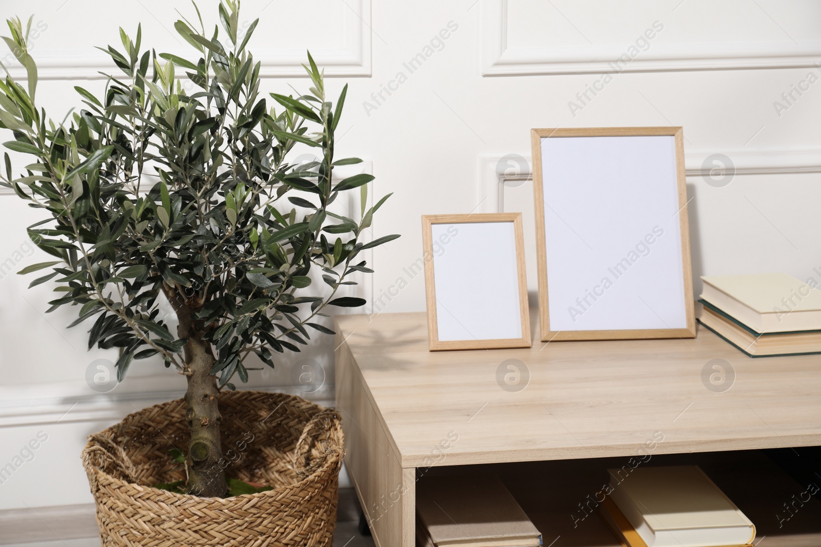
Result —
M 103 547 L 332 545 L 345 452 L 336 411 L 258 391 L 221 394 L 219 408 L 226 475 L 273 490 L 221 499 L 153 488 L 185 478 L 168 449 L 188 445 L 186 403 L 145 408 L 83 449 Z

